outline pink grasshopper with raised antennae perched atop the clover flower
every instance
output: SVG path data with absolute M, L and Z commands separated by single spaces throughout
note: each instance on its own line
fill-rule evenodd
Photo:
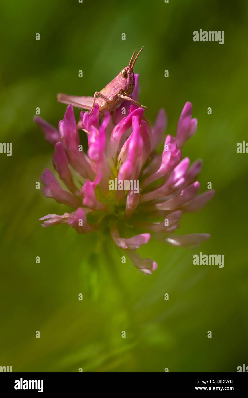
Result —
M 67 94 L 59 93 L 57 95 L 57 100 L 69 105 L 72 104 L 81 109 L 89 110 L 90 116 L 95 103 L 98 103 L 100 116 L 103 116 L 105 111 L 113 111 L 113 109 L 124 100 L 131 101 L 135 103 L 135 105 L 139 105 L 141 108 L 147 109 L 146 106 L 141 105 L 139 102 L 131 98 L 131 94 L 135 88 L 133 67 L 143 48 L 144 47 L 142 47 L 133 61 L 136 53 L 135 50 L 129 65 L 122 69 L 121 72 L 101 91 L 96 91 L 94 97 L 68 96 Z

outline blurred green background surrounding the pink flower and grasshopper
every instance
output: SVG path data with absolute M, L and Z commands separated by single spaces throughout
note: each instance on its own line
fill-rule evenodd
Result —
M 13 142 L 13 156 L 0 154 L 0 365 L 35 372 L 235 372 L 248 364 L 248 155 L 236 153 L 237 142 L 247 139 L 247 11 L 245 0 L 2 0 L 0 140 Z M 200 28 L 225 31 L 225 43 L 193 42 Z M 53 170 L 53 147 L 33 123 L 35 108 L 57 126 L 66 109 L 57 92 L 93 95 L 143 45 L 135 72 L 146 115 L 154 121 L 164 107 L 167 133 L 175 135 L 184 103 L 192 102 L 198 129 L 183 155 L 203 159 L 201 192 L 208 181 L 216 189 L 178 230 L 208 232 L 211 240 L 195 250 L 149 242 L 139 253 L 157 261 L 151 276 L 128 259 L 122 264 L 110 240 L 97 256 L 96 234 L 41 228 L 40 217 L 66 207 L 35 189 L 41 172 Z M 224 254 L 224 268 L 193 265 L 200 251 Z

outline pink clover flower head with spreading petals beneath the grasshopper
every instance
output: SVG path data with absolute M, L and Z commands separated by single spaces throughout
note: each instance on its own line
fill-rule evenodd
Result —
M 138 96 L 138 74 L 135 74 L 133 98 L 138 100 Z M 128 114 L 123 115 L 123 110 Z M 107 232 L 139 271 L 151 274 L 157 263 L 142 258 L 136 250 L 150 238 L 188 248 L 209 239 L 209 234 L 174 232 L 180 227 L 182 215 L 201 210 L 214 191 L 197 195 L 196 179 L 202 162 L 197 160 L 189 167 L 189 158 L 182 158 L 184 143 L 197 129 L 191 103 L 187 102 L 182 110 L 175 137 L 164 137 L 167 119 L 163 109 L 152 127 L 144 112 L 143 108 L 123 101 L 112 115 L 106 112 L 102 121 L 97 103 L 91 116 L 80 112 L 78 123 L 69 105 L 59 129 L 40 117 L 34 120 L 45 139 L 55 147 L 53 166 L 67 187 L 63 189 L 51 171 L 45 169 L 41 175 L 43 195 L 72 208 L 63 215 L 42 217 L 41 225 L 68 224 L 80 234 Z M 87 154 L 82 152 L 79 131 L 87 134 Z M 163 142 L 160 154 L 156 148 Z M 110 181 L 117 190 L 109 189 Z M 125 181 L 129 183 L 127 189 Z

